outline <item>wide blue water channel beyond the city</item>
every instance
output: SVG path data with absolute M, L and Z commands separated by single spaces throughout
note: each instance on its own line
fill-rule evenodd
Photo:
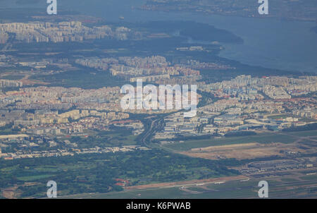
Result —
M 311 28 L 316 26 L 316 23 L 132 9 L 132 6 L 140 6 L 144 1 L 87 0 L 78 3 L 75 0 L 63 0 L 58 1 L 58 8 L 99 16 L 111 22 L 118 22 L 118 17 L 124 16 L 127 22 L 194 20 L 209 23 L 216 28 L 229 30 L 244 39 L 244 44 L 224 44 L 225 50 L 219 55 L 221 57 L 249 65 L 317 73 L 317 34 L 311 32 Z M 46 4 L 43 2 L 45 3 L 42 0 L 39 4 L 33 5 L 4 2 L 1 3 L 0 8 L 34 6 L 45 11 Z

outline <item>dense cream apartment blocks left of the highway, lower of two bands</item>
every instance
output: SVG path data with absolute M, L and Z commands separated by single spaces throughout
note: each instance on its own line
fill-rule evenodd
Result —
M 58 111 L 35 111 L 35 114 L 24 113 L 21 114 L 20 119 L 15 119 L 13 123 L 14 126 L 20 127 L 21 131 L 33 135 L 74 135 L 82 133 L 83 130 L 88 128 L 108 130 L 112 121 L 128 118 L 129 114 L 123 112 L 111 111 L 107 113 L 96 110 L 74 109 L 62 114 L 58 114 Z

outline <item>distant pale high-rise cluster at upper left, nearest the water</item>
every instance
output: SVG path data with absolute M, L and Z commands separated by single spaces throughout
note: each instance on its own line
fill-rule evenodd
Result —
M 0 24 L 0 43 L 6 43 L 9 34 L 21 42 L 82 42 L 86 39 L 103 39 L 105 37 L 125 40 L 130 37 L 131 30 L 120 27 L 112 29 L 104 25 L 88 28 L 79 21 L 61 23 L 5 23 Z

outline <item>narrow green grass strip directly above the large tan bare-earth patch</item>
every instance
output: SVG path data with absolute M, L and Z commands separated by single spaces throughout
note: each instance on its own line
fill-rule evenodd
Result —
M 296 138 L 292 135 L 279 135 L 277 133 L 261 133 L 259 135 L 251 136 L 240 136 L 240 137 L 230 137 L 230 138 L 211 138 L 204 140 L 187 140 L 185 142 L 174 144 L 163 145 L 163 148 L 167 150 L 173 150 L 176 152 L 187 151 L 198 147 L 210 147 L 218 145 L 234 145 L 249 142 L 259 142 L 259 143 L 271 143 L 271 142 L 282 142 L 290 143 L 294 142 Z

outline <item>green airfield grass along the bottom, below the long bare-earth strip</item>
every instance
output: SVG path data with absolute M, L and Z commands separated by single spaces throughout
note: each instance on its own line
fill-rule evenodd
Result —
M 287 179 L 287 180 L 286 180 Z M 87 198 L 87 199 L 218 199 L 218 198 L 259 198 L 258 183 L 260 180 L 250 181 L 229 181 L 223 184 L 209 183 L 206 185 L 193 185 L 186 188 L 151 188 L 145 190 L 130 190 L 117 193 L 105 194 L 82 194 L 71 195 L 65 198 Z M 295 180 L 296 181 L 296 180 Z M 316 181 L 316 180 L 315 180 Z M 275 179 L 268 180 L 269 197 L 297 197 L 302 195 L 316 196 L 316 193 L 305 188 L 306 184 L 315 184 L 311 181 L 297 181 L 290 183 L 289 178 L 285 181 Z M 290 189 L 290 185 L 296 185 L 297 188 Z M 64 197 L 63 197 L 64 198 Z

